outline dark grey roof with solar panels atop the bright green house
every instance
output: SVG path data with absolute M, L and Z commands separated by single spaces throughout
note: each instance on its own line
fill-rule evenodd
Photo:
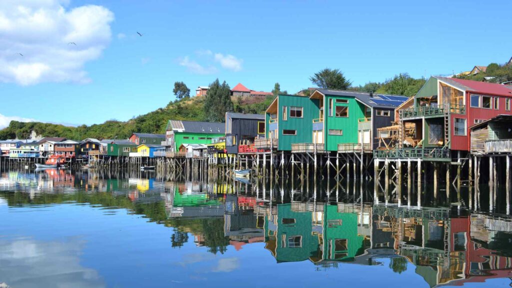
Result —
M 396 108 L 409 99 L 409 97 L 402 95 L 378 94 L 334 89 L 316 90 L 324 95 L 354 97 L 357 100 L 361 101 L 363 104 L 374 108 Z

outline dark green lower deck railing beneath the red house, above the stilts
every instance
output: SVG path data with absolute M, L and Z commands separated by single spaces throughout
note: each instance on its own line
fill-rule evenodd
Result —
M 430 159 L 437 161 L 451 161 L 452 155 L 449 149 L 442 148 L 403 148 L 393 150 L 374 150 L 374 158 L 388 159 Z

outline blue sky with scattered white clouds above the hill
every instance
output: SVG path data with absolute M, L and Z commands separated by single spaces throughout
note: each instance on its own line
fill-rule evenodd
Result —
M 511 10 L 510 1 L 7 0 L 0 128 L 127 120 L 173 100 L 175 81 L 193 91 L 216 78 L 264 91 L 279 82 L 294 93 L 325 67 L 359 85 L 504 63 Z

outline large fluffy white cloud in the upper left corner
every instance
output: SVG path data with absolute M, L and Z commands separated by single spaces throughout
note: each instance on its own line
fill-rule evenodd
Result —
M 0 82 L 91 81 L 84 64 L 97 59 L 109 45 L 114 14 L 96 5 L 66 9 L 68 4 L 67 0 L 2 1 Z

